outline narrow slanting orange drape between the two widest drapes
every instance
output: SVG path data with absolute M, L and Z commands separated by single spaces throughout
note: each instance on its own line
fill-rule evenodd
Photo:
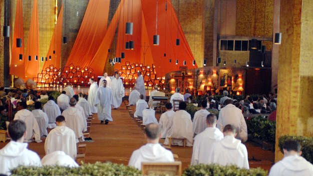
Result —
M 96 74 L 96 76 L 103 74 L 103 69 L 105 67 L 105 64 L 108 58 L 108 49 L 110 48 L 112 44 L 116 27 L 120 19 L 120 12 L 121 12 L 121 9 L 123 9 L 123 5 L 124 5 L 124 0 L 121 0 L 95 56 L 87 65 L 94 69 L 94 73 Z M 81 66 L 86 66 L 86 64 L 81 65 Z

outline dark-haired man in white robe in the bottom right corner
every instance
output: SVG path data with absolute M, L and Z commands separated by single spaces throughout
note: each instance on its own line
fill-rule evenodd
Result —
M 313 175 L 313 165 L 301 156 L 301 145 L 295 140 L 286 140 L 282 146 L 283 158 L 269 170 L 269 176 Z

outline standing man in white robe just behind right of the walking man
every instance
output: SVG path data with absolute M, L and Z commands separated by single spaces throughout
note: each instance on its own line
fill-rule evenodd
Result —
M 113 107 L 117 109 L 118 107 L 120 107 L 122 103 L 122 98 L 125 96 L 125 90 L 123 81 L 117 71 L 115 71 L 114 76 L 115 78 L 113 78 L 112 80 L 111 89 L 113 93 Z

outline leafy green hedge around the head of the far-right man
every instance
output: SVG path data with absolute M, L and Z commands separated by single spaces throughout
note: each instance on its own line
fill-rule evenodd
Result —
M 313 137 L 304 137 L 299 135 L 282 135 L 278 139 L 278 146 L 280 151 L 282 151 L 283 143 L 286 140 L 296 140 L 301 145 L 301 156 L 308 160 L 310 163 L 313 163 Z

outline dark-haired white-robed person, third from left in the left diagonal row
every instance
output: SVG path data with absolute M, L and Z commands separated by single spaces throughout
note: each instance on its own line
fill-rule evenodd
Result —
M 61 115 L 61 110 L 58 104 L 54 101 L 53 96 L 49 96 L 47 103 L 44 105 L 44 111 L 48 115 L 48 128 L 55 128 L 56 118 Z

